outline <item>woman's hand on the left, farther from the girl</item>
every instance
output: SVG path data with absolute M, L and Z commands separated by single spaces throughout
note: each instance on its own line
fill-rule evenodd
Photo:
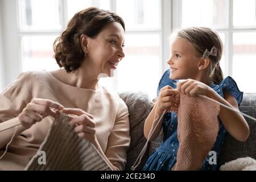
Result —
M 19 122 L 29 129 L 36 122 L 42 121 L 43 118 L 51 115 L 54 118 L 59 117 L 59 114 L 56 110 L 62 110 L 64 107 L 57 102 L 42 99 L 42 98 L 33 98 L 30 103 L 22 110 L 22 113 L 19 114 Z

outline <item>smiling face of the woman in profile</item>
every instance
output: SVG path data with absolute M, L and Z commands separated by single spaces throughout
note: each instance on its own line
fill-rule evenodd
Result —
M 113 76 L 119 61 L 125 57 L 124 42 L 125 31 L 121 24 L 109 23 L 95 38 L 87 38 L 86 66 L 89 64 L 98 75 Z

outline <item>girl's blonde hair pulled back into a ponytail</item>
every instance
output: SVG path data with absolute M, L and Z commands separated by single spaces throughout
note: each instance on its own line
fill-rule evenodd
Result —
M 208 27 L 188 27 L 176 30 L 175 37 L 187 40 L 195 48 L 196 54 L 203 57 L 206 49 L 210 51 L 213 46 L 217 48 L 216 56 L 209 56 L 209 77 L 213 84 L 220 84 L 224 76 L 220 68 L 223 45 L 217 32 Z

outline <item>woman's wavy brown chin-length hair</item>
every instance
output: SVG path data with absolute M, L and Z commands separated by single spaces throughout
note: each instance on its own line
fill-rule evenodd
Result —
M 86 56 L 80 46 L 80 36 L 84 34 L 94 38 L 107 24 L 113 22 L 120 23 L 125 30 L 123 19 L 112 11 L 90 7 L 76 13 L 53 43 L 54 57 L 59 67 L 64 67 L 68 73 L 78 69 Z

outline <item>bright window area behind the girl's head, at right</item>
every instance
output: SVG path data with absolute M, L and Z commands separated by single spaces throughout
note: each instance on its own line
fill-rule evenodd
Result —
M 191 8 L 193 7 L 193 8 Z M 232 76 L 243 92 L 256 92 L 256 1 L 175 0 L 174 27 L 208 26 L 224 43 L 220 61 L 224 76 Z

